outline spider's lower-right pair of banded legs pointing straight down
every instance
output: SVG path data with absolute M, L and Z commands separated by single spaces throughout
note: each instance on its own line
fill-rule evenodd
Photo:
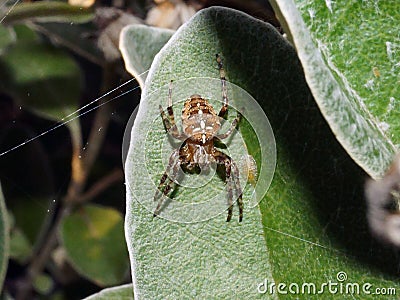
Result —
M 239 170 L 236 167 L 236 164 L 232 162 L 232 159 L 227 154 L 221 151 L 215 151 L 214 157 L 218 164 L 225 165 L 225 184 L 228 193 L 228 217 L 226 219 L 229 222 L 232 218 L 233 213 L 233 189 L 235 189 L 238 194 L 238 206 L 239 206 L 239 222 L 242 222 L 243 219 L 243 201 L 242 201 L 242 190 L 240 187 L 239 178 Z M 238 176 L 238 178 L 232 178 L 231 171 L 233 167 L 234 176 Z M 232 185 L 234 188 L 232 188 Z

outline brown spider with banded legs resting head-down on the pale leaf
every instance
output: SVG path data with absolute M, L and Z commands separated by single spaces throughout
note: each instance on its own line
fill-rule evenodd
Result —
M 225 71 L 221 57 L 216 54 L 218 64 L 223 105 L 216 114 L 213 106 L 207 99 L 198 94 L 191 95 L 184 103 L 182 110 L 182 130 L 178 130 L 175 123 L 174 113 L 172 110 L 172 82 L 170 82 L 168 90 L 168 107 L 167 113 L 164 112 L 162 106 L 159 106 L 160 114 L 167 133 L 173 138 L 183 141 L 178 149 L 175 149 L 169 157 L 168 165 L 161 177 L 157 191 L 154 195 L 154 201 L 158 200 L 157 207 L 153 216 L 157 216 L 163 203 L 163 197 L 173 190 L 175 179 L 177 177 L 179 167 L 184 172 L 194 170 L 207 169 L 211 163 L 225 166 L 225 185 L 228 197 L 228 217 L 229 222 L 233 212 L 233 193 L 237 195 L 237 203 L 239 206 L 239 222 L 243 219 L 243 201 L 242 189 L 239 182 L 239 169 L 235 162 L 227 154 L 218 150 L 214 143 L 229 137 L 238 125 L 241 114 L 238 112 L 236 118 L 232 121 L 230 128 L 225 133 L 219 133 L 221 127 L 220 118 L 224 118 L 228 112 L 229 99 L 227 96 L 227 87 L 225 79 Z M 168 177 L 170 174 L 170 177 Z M 168 179 L 168 180 L 167 180 Z

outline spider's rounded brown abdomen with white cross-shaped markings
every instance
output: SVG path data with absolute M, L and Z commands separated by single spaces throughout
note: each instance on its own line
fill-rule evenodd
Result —
M 190 96 L 182 110 L 182 129 L 191 139 L 200 144 L 210 141 L 221 127 L 212 105 L 200 95 Z

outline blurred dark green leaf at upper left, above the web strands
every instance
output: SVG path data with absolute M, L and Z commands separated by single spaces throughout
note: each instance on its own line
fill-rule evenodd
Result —
M 0 56 L 0 88 L 35 113 L 57 121 L 78 109 L 81 73 L 64 51 L 19 41 Z

